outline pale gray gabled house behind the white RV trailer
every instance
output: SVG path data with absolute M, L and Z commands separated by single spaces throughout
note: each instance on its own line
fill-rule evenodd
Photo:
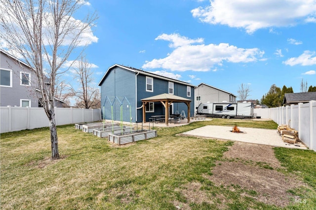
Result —
M 236 103 L 236 96 L 230 92 L 225 90 L 221 90 L 219 88 L 213 87 L 211 85 L 200 83 L 194 89 L 195 101 L 194 106 L 197 109 L 200 103 L 221 103 L 221 102 L 228 102 L 228 103 Z

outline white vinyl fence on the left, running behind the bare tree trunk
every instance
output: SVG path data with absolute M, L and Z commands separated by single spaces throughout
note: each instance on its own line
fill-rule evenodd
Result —
M 67 125 L 101 120 L 101 109 L 57 108 L 56 125 Z M 48 127 L 43 107 L 0 107 L 0 133 Z

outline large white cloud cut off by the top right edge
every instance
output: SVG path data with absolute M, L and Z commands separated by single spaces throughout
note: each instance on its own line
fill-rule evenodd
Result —
M 262 28 L 316 22 L 316 3 L 315 0 L 211 0 L 209 6 L 195 8 L 191 13 L 202 22 L 244 28 L 252 34 Z

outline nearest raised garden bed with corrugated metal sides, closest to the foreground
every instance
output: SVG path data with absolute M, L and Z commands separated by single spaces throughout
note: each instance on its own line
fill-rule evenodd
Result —
M 138 130 L 125 134 L 109 134 L 109 141 L 118 145 L 157 137 L 155 130 Z

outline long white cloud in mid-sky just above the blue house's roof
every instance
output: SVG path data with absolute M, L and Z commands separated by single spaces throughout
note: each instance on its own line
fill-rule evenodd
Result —
M 159 35 L 156 40 L 158 39 L 170 41 L 169 47 L 175 49 L 165 58 L 146 61 L 142 68 L 208 71 L 215 65 L 221 66 L 224 61 L 231 63 L 255 62 L 264 54 L 264 51 L 260 51 L 258 48 L 244 49 L 228 43 L 193 45 L 193 43 L 201 43 L 203 39 L 189 39 L 175 34 Z

